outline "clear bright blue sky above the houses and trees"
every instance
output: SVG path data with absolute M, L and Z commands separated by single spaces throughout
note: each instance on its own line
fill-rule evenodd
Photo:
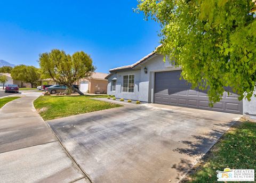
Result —
M 1 1 L 0 60 L 38 67 L 53 48 L 90 54 L 98 72 L 132 64 L 159 45 L 159 26 L 136 0 Z

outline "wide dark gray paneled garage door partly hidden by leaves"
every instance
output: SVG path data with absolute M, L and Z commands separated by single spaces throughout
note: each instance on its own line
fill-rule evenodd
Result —
M 181 71 L 167 71 L 155 73 L 155 96 L 157 104 L 193 107 L 197 109 L 243 113 L 243 103 L 238 101 L 237 94 L 223 93 L 223 99 L 209 107 L 207 91 L 192 90 L 185 80 L 180 80 Z

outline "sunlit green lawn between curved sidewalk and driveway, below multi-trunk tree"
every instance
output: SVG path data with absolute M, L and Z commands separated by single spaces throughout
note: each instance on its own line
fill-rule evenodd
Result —
M 44 120 L 122 106 L 91 99 L 93 97 L 103 96 L 40 96 L 34 101 L 34 106 Z

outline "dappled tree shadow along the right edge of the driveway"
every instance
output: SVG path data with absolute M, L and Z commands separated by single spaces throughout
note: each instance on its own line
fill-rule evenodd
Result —
M 176 179 L 180 179 L 180 176 L 184 176 L 186 173 L 192 169 L 196 163 L 205 156 L 207 152 L 212 148 L 212 146 L 218 142 L 219 138 L 225 134 L 229 127 L 233 126 L 234 123 L 240 123 L 239 121 L 230 121 L 226 123 L 215 123 L 214 126 L 221 126 L 223 130 L 211 129 L 210 132 L 204 133 L 202 135 L 193 135 L 191 140 L 182 140 L 182 144 L 186 144 L 188 148 L 176 148 L 173 151 L 179 154 L 185 154 L 189 157 L 193 157 L 194 161 L 187 159 L 180 159 L 180 162 L 173 164 L 172 168 L 176 169 L 178 176 Z

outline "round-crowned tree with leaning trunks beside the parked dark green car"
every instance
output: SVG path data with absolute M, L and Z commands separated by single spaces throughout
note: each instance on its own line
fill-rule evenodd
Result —
M 39 55 L 39 65 L 44 78 L 52 78 L 61 85 L 66 85 L 80 95 L 84 95 L 73 83 L 79 79 L 91 76 L 94 71 L 92 59 L 84 52 L 75 52 L 73 55 L 66 54 L 59 49 L 53 49 L 49 53 Z

